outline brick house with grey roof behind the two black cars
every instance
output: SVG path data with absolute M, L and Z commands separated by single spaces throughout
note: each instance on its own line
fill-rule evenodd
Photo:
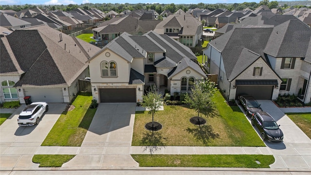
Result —
M 275 27 L 233 28 L 209 42 L 203 58 L 227 100 L 240 94 L 267 100 L 301 94 L 309 103 L 310 48 L 311 29 L 291 19 Z

